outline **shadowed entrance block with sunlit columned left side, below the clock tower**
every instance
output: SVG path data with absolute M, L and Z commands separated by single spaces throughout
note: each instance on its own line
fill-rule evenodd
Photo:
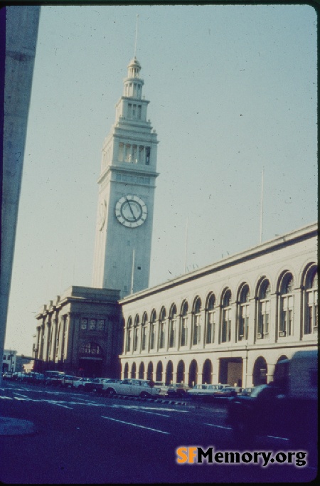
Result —
M 76 376 L 119 374 L 118 300 L 117 290 L 70 287 L 43 305 L 36 315 L 35 370 L 57 369 Z

